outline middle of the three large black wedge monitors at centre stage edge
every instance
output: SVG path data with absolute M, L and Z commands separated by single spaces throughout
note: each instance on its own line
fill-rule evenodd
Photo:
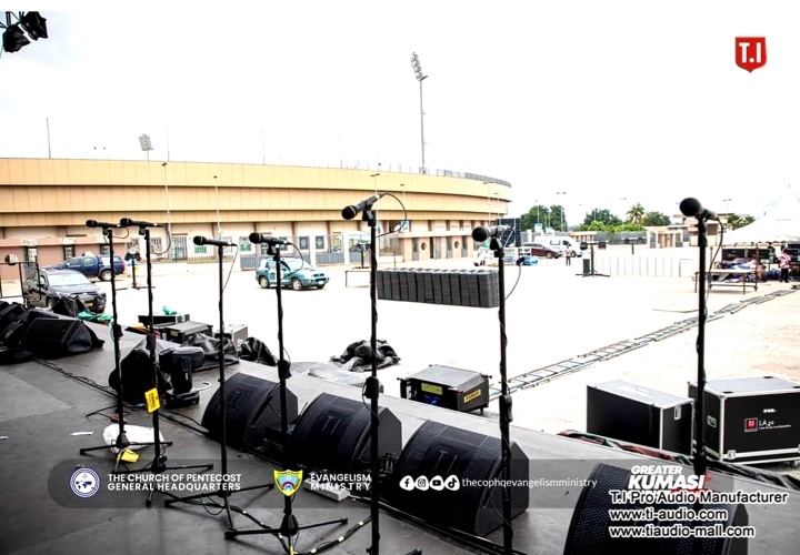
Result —
M 398 455 L 402 425 L 394 414 L 378 408 L 378 453 Z M 300 415 L 289 443 L 290 461 L 314 471 L 358 473 L 370 467 L 369 405 L 322 393 Z

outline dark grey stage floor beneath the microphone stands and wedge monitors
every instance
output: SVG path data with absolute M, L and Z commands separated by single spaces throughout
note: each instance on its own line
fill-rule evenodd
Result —
M 108 337 L 107 329 L 101 337 Z M 123 355 L 143 337 L 126 334 Z M 80 455 L 81 447 L 102 444 L 102 431 L 110 421 L 107 416 L 86 415 L 103 407 L 103 414 L 113 412 L 113 397 L 92 386 L 108 384 L 113 369 L 113 350 L 110 341 L 101 350 L 51 362 L 27 362 L 0 367 L 0 553 L 14 554 L 74 554 L 74 553 L 283 553 L 271 536 L 224 538 L 228 529 L 224 515 L 202 506 L 179 505 L 164 507 L 162 494 L 156 494 L 151 507 L 146 506 L 147 493 L 131 493 L 124 506 L 81 508 L 63 506 L 59 493 L 68 484 L 53 484 L 54 468 L 82 464 L 110 470 L 112 455 L 100 451 Z M 277 381 L 276 369 L 240 362 L 226 369 L 227 376 L 246 372 Z M 220 446 L 202 435 L 199 425 L 211 395 L 218 389 L 217 371 L 196 373 L 194 386 L 208 382 L 201 392 L 199 405 L 161 412 L 161 432 L 173 445 L 167 448 L 169 463 L 213 463 L 219 470 Z M 302 408 L 322 392 L 360 400 L 360 390 L 303 375 L 292 376 L 289 389 L 298 396 Z M 498 422 L 491 414 L 463 414 L 397 397 L 381 396 L 382 406 L 394 413 L 402 423 L 403 441 L 426 421 L 499 435 Z M 151 425 L 146 411 L 132 411 L 129 424 Z M 91 435 L 72 435 L 92 432 Z M 531 478 L 554 474 L 584 478 L 599 461 L 623 464 L 637 457 L 617 450 L 586 442 L 512 426 L 512 441 L 517 442 L 531 461 Z M 140 451 L 136 467 L 152 461 L 152 447 Z M 232 468 L 247 468 L 243 485 L 272 482 L 272 466 L 267 462 L 229 450 Z M 647 461 L 642 458 L 642 461 Z M 763 483 L 731 480 L 736 488 L 744 491 L 779 491 Z M 56 491 L 56 494 L 53 493 Z M 513 521 L 514 548 L 524 554 L 562 553 L 570 519 L 581 487 L 531 490 L 530 508 Z M 73 500 L 74 501 L 74 500 Z M 268 525 L 278 526 L 283 507 L 282 495 L 276 491 L 253 491 L 234 494 L 233 504 L 246 508 Z M 69 504 L 68 504 L 69 505 Z M 207 511 L 208 508 L 208 511 Z M 784 505 L 748 506 L 750 524 L 757 536 L 750 543 L 750 553 L 796 553 L 797 519 L 800 516 L 800 495 L 791 493 Z M 350 523 L 303 531 L 299 551 L 307 552 L 321 542 L 341 535 L 349 526 L 369 516 L 369 505 L 344 501 L 336 503 L 306 490 L 296 496 L 294 514 L 300 524 L 348 516 Z M 246 517 L 234 514 L 238 528 L 254 528 Z M 381 552 L 388 555 L 406 554 L 413 548 L 426 555 L 482 553 L 430 531 L 387 511 L 380 518 Z M 502 529 L 487 538 L 502 543 Z M 370 525 L 358 529 L 331 554 L 366 553 L 371 543 Z

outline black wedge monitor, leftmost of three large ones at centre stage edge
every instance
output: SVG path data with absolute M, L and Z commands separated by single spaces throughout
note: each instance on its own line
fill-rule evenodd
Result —
M 280 387 L 250 374 L 238 373 L 224 383 L 226 393 L 226 440 L 233 448 L 259 451 L 279 458 L 283 445 L 281 433 Z M 202 417 L 208 436 L 222 441 L 222 407 L 220 390 L 211 397 Z M 298 400 L 287 390 L 287 420 L 298 416 Z

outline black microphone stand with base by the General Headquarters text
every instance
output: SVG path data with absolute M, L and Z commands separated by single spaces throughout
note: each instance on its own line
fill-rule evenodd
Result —
M 218 497 L 222 497 L 222 507 L 226 511 L 226 514 L 228 516 L 228 528 L 234 529 L 233 526 L 233 516 L 231 514 L 231 511 L 234 511 L 237 513 L 240 513 L 244 516 L 250 517 L 250 515 L 242 511 L 241 508 L 233 506 L 228 501 L 229 497 L 232 495 L 232 492 L 229 488 L 224 487 L 224 476 L 228 476 L 228 433 L 227 433 L 227 422 L 228 422 L 228 401 L 224 393 L 224 316 L 223 316 L 223 293 L 224 293 L 224 279 L 222 273 L 223 268 L 223 252 L 224 246 L 217 245 L 217 254 L 218 254 L 218 266 L 219 266 L 219 313 L 220 313 L 220 341 L 217 346 L 217 356 L 219 357 L 219 395 L 220 395 L 220 414 L 222 417 L 221 422 L 221 451 L 220 451 L 220 460 L 221 460 L 221 473 L 223 476 L 223 481 L 220 483 L 219 490 L 217 490 L 216 495 Z M 232 340 L 231 340 L 232 341 Z M 259 488 L 271 488 L 274 487 L 274 484 L 262 484 L 257 486 L 250 486 L 250 487 L 240 487 L 237 490 L 238 492 L 248 492 L 251 490 L 259 490 Z M 167 492 L 163 492 L 167 493 Z M 172 496 L 171 498 L 164 501 L 164 506 L 169 507 L 172 506 L 176 503 L 189 503 L 191 505 L 202 505 L 202 503 L 196 503 L 196 500 L 202 500 L 203 497 L 209 497 L 210 495 L 208 493 L 201 493 L 197 495 L 188 495 L 183 497 Z M 252 517 L 251 517 L 252 518 Z

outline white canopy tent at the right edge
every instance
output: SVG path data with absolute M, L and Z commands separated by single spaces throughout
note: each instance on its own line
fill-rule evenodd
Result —
M 800 241 L 800 201 L 791 189 L 764 215 L 722 238 L 726 246 Z

